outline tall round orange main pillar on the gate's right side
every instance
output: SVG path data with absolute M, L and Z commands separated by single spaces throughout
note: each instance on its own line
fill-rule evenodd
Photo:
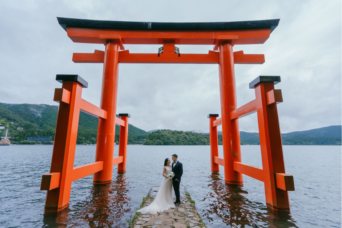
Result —
M 233 45 L 237 36 L 220 41 L 219 80 L 221 97 L 224 180 L 227 184 L 242 184 L 242 174 L 234 171 L 234 162 L 241 162 L 238 120 L 231 120 L 230 112 L 237 108 Z M 235 39 L 234 39 L 235 38 Z M 215 46 L 215 47 L 216 47 Z M 214 48 L 215 49 L 215 48 Z

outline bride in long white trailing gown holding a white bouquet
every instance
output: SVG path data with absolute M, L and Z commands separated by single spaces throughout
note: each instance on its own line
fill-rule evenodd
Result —
M 137 212 L 155 215 L 157 212 L 163 212 L 170 208 L 175 208 L 172 200 L 172 179 L 169 176 L 169 173 L 172 170 L 170 163 L 170 159 L 165 159 L 163 167 L 164 179 L 160 185 L 159 191 L 157 192 L 156 198 L 150 205 L 137 210 Z

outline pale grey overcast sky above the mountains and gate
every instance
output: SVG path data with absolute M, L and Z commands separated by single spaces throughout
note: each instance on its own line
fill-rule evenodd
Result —
M 129 4 L 127 2 L 130 2 Z M 56 17 L 141 22 L 230 22 L 280 18 L 264 44 L 234 51 L 265 54 L 263 65 L 235 65 L 238 106 L 255 98 L 248 83 L 279 75 L 282 133 L 341 124 L 341 1 L 1 1 L 0 102 L 58 105 L 56 74 L 78 74 L 82 97 L 99 106 L 103 64 L 75 64 L 74 52 L 104 50 L 73 43 Z M 160 45 L 126 45 L 157 53 Z M 211 45 L 178 45 L 181 53 L 208 53 Z M 218 65 L 120 64 L 117 113 L 145 131 L 209 132 L 220 113 Z M 258 132 L 256 113 L 240 131 Z

